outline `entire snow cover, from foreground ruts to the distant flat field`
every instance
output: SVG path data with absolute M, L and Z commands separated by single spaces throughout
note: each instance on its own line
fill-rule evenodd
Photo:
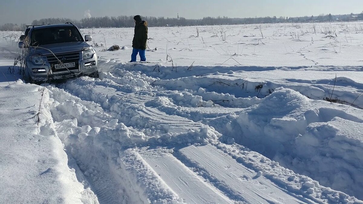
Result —
M 360 22 L 82 32 L 99 79 L 43 86 L 0 33 L 0 203 L 363 203 Z

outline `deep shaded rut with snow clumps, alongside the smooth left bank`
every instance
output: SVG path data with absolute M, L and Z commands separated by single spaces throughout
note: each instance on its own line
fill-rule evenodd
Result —
M 52 95 L 55 94 L 55 98 L 58 99 L 64 98 L 60 97 L 61 94 L 64 94 L 65 97 L 69 97 L 69 99 L 77 100 L 77 97 L 65 93 L 60 89 L 53 88 L 50 92 Z M 98 114 L 105 114 L 100 112 L 98 107 L 92 106 L 93 102 L 78 102 L 81 102 L 89 107 L 93 107 L 92 109 L 97 110 Z M 89 113 L 91 110 L 86 107 L 79 107 L 82 106 L 81 103 L 76 103 L 74 106 L 72 106 L 72 104 L 65 103 L 63 106 L 66 106 L 68 109 L 65 110 L 62 107 L 57 109 L 53 108 L 53 112 L 60 114 L 58 112 L 64 110 L 63 114 L 65 115 L 63 119 L 68 119 L 69 121 L 57 122 L 57 130 L 60 132 L 60 138 L 63 138 L 62 142 L 65 144 L 65 148 L 68 149 L 76 159 L 77 165 L 89 181 L 93 191 L 97 194 L 99 202 L 101 204 L 149 203 L 148 198 L 144 196 L 144 189 L 136 182 L 136 175 L 132 175 L 132 172 L 128 171 L 125 166 L 127 163 L 125 164 L 120 159 L 124 157 L 122 152 L 118 152 L 120 144 L 118 144 L 118 141 L 112 141 L 112 138 L 107 138 L 107 135 L 109 135 L 109 133 L 107 133 L 107 127 L 102 127 L 101 130 L 99 128 L 98 130 L 97 128 L 86 130 L 87 128 L 90 129 L 90 127 L 77 126 L 77 118 L 81 120 L 83 117 L 90 117 L 93 114 Z M 87 113 L 89 115 L 77 113 L 77 111 L 73 109 L 77 109 L 78 111 L 82 111 L 83 109 L 83 113 Z M 69 113 L 69 115 L 67 113 Z M 73 117 L 76 117 L 76 119 L 73 119 Z M 106 122 L 109 119 L 110 118 L 106 118 Z M 86 120 L 83 121 L 83 123 L 87 123 Z M 94 122 L 92 123 L 96 125 Z M 102 124 L 107 126 L 110 123 L 103 122 Z M 99 124 L 99 126 L 102 126 L 102 124 Z M 69 131 L 71 132 L 65 136 L 66 132 Z M 99 134 L 97 133 L 98 131 Z M 105 135 L 101 136 L 100 134 L 104 131 L 106 131 Z M 112 132 L 114 130 L 112 128 L 108 128 L 108 131 Z M 126 131 L 126 133 L 130 134 L 130 130 Z M 120 130 L 118 132 L 120 132 Z M 103 141 L 102 138 L 104 138 L 105 141 Z M 107 144 L 110 144 L 111 146 L 109 147 Z M 136 164 L 135 161 L 132 162 L 132 165 L 134 164 Z M 156 200 L 160 199 L 160 202 L 165 199 L 167 202 L 178 200 L 178 197 L 174 196 L 170 190 L 163 186 L 158 188 L 158 193 L 151 193 L 151 196 L 156 197 Z

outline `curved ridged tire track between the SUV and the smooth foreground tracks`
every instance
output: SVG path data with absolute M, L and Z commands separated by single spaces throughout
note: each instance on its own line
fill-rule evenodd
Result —
M 109 110 L 109 114 L 113 115 L 114 118 L 126 126 L 139 127 L 140 131 L 145 127 L 153 128 L 155 129 L 154 133 L 160 135 L 170 132 L 186 132 L 204 126 L 177 115 L 165 114 L 152 107 L 155 103 L 155 97 L 137 93 L 120 95 L 123 87 L 119 86 L 117 89 L 111 90 L 110 83 L 87 78 L 77 79 L 77 84 L 74 82 L 61 85 L 61 87 L 82 100 L 100 104 L 103 109 Z M 104 91 L 103 88 L 106 87 L 107 91 Z

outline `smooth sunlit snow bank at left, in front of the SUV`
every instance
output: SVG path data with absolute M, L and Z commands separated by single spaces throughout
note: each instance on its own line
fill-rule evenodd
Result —
M 0 87 L 0 203 L 98 203 L 49 120 L 47 93 L 39 108 L 42 90 L 20 80 Z

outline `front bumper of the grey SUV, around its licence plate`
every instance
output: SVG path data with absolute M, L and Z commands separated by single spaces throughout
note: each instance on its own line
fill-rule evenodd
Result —
M 58 55 L 58 54 L 57 54 Z M 26 61 L 27 71 L 29 72 L 29 76 L 34 81 L 47 81 L 48 79 L 69 79 L 78 76 L 87 76 L 98 70 L 98 61 L 97 61 L 97 54 L 94 53 L 92 58 L 87 60 L 83 60 L 82 52 L 79 52 L 79 59 L 76 60 L 76 67 L 69 68 L 69 70 L 63 69 L 55 69 L 54 62 L 48 62 L 46 57 L 43 57 L 44 64 L 42 65 L 35 65 L 32 61 Z M 61 60 L 62 61 L 62 60 Z M 91 62 L 94 62 L 94 65 L 90 65 Z M 88 65 L 88 66 L 87 66 Z M 42 72 L 34 73 L 33 70 L 45 70 Z

